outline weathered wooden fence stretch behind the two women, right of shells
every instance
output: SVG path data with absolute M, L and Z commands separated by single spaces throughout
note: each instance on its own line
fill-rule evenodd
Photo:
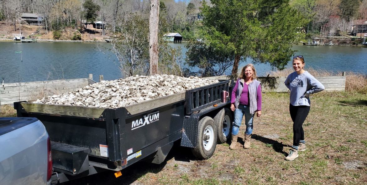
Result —
M 345 72 L 343 76 L 315 76 L 324 86 L 325 91 L 344 91 L 345 90 Z M 213 76 L 208 79 L 227 80 L 230 76 Z M 287 77 L 258 77 L 261 82 L 261 90 L 263 92 L 288 92 L 288 88 L 284 85 Z

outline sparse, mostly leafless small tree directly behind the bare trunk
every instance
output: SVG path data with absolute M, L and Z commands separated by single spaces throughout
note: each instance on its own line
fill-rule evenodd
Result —
M 106 54 L 124 77 L 149 74 L 149 20 L 143 15 L 130 14 L 127 20 L 119 20 L 111 47 L 97 45 L 97 50 Z M 159 35 L 163 35 L 159 33 Z M 172 49 L 159 37 L 159 72 L 183 75 L 180 49 Z M 159 73 L 157 72 L 157 73 Z

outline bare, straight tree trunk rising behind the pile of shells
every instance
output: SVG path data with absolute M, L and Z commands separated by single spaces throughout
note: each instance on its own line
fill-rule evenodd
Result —
M 149 16 L 149 75 L 156 75 L 158 68 L 159 0 L 150 0 Z

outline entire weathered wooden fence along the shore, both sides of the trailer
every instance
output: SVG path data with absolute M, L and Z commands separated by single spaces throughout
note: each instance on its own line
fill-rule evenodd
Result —
M 343 76 L 315 76 L 324 86 L 326 91 L 345 90 L 345 72 Z M 213 76 L 208 79 L 226 80 L 229 76 Z M 99 82 L 103 80 L 103 75 L 99 75 Z M 263 92 L 287 92 L 288 88 L 284 85 L 286 77 L 258 77 L 261 81 Z M 53 94 L 62 94 L 73 91 L 77 88 L 85 87 L 93 81 L 92 74 L 88 78 L 69 79 L 69 80 L 50 80 L 40 82 L 20 82 L 4 83 L 0 86 L 0 105 L 11 104 L 17 101 L 28 101 Z

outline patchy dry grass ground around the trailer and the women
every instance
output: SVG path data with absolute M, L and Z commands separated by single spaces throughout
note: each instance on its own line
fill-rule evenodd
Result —
M 134 164 L 123 170 L 123 176 L 98 176 L 90 184 L 155 185 L 358 185 L 367 181 L 367 96 L 363 93 L 321 92 L 311 97 L 311 110 L 305 121 L 306 151 L 292 162 L 284 157 L 292 144 L 292 121 L 288 112 L 287 93 L 263 94 L 262 116 L 254 117 L 251 148 L 229 150 L 218 144 L 214 155 L 196 160 L 180 147 L 172 150 L 166 163 L 149 167 Z M 6 112 L 6 113 L 5 113 Z M 1 106 L 1 116 L 15 111 Z M 244 138 L 243 123 L 239 138 Z M 276 134 L 278 139 L 264 136 Z M 239 139 L 239 142 L 242 142 Z M 359 163 L 359 166 L 355 166 Z M 148 166 L 148 167 L 147 167 Z M 153 169 L 152 169 L 153 168 Z M 86 179 L 80 184 L 86 184 Z M 77 181 L 73 181 L 77 185 Z M 97 183 L 98 184 L 98 183 Z

